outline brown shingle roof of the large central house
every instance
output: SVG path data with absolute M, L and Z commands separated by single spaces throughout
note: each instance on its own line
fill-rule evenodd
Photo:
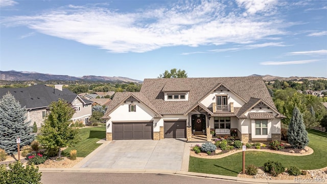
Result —
M 142 94 L 144 100 L 147 101 L 146 103 L 151 104 L 151 108 L 155 109 L 159 114 L 183 114 L 220 83 L 248 102 L 247 106 L 258 102 L 256 99 L 262 99 L 267 105 L 276 109 L 261 77 L 145 79 L 141 91 L 136 94 Z M 164 91 L 189 91 L 189 100 L 165 101 Z M 117 94 L 111 101 L 108 111 L 113 110 L 112 108 L 120 104 L 124 97 L 128 98 L 129 95 L 128 93 L 122 93 L 117 96 Z M 148 106 L 150 107 L 150 105 Z M 247 110 L 247 106 L 244 109 Z M 240 114 L 241 112 L 242 109 L 239 109 L 236 113 Z

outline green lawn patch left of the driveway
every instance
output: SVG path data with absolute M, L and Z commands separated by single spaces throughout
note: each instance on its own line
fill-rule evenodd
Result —
M 81 128 L 79 136 L 81 141 L 75 144 L 74 147 L 66 148 L 62 155 L 68 156 L 71 150 L 76 149 L 78 157 L 87 156 L 101 145 L 97 144 L 97 142 L 106 137 L 106 127 Z

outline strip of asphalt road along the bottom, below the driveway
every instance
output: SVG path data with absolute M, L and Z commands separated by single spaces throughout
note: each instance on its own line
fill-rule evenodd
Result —
M 99 173 L 99 172 L 42 172 L 41 182 L 44 184 L 61 183 L 226 183 L 236 184 L 236 181 L 201 178 L 193 176 L 150 174 L 150 173 Z

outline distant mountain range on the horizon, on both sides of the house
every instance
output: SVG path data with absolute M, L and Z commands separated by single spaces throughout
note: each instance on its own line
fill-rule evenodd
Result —
M 293 80 L 301 81 L 303 79 L 308 80 L 318 80 L 323 79 L 327 80 L 324 77 L 278 77 L 271 75 L 257 75 L 253 74 L 249 77 L 262 77 L 265 81 L 274 81 L 274 80 Z M 106 76 L 83 76 L 83 77 L 74 77 L 68 75 L 53 75 L 53 74 L 41 74 L 37 72 L 18 72 L 18 71 L 0 71 L 0 80 L 5 81 L 30 81 L 30 80 L 39 80 L 39 81 L 50 81 L 50 80 L 61 80 L 61 81 L 108 81 L 108 82 L 134 82 L 142 83 L 143 81 L 131 79 L 127 77 L 106 77 Z

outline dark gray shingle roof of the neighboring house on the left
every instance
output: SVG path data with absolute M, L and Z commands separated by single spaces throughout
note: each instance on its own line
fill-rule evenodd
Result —
M 48 107 L 51 102 L 57 101 L 59 98 L 72 103 L 77 97 L 77 94 L 68 89 L 63 88 L 61 91 L 42 84 L 20 88 L 0 88 L 0 96 L 4 96 L 8 91 L 15 97 L 22 107 L 25 106 L 27 109 Z M 92 103 L 86 99 L 82 100 L 87 104 Z

